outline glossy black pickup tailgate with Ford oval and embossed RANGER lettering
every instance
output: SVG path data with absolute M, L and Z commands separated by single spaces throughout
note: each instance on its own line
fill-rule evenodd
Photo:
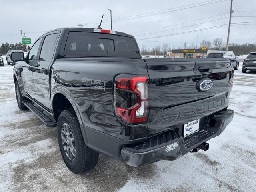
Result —
M 148 134 L 182 126 L 228 106 L 232 67 L 226 58 L 149 58 Z M 212 80 L 212 87 L 198 86 Z M 196 88 L 197 87 L 197 88 Z

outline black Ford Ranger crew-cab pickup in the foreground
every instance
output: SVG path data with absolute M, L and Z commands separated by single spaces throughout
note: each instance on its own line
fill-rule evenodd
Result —
M 58 126 L 74 173 L 99 153 L 139 167 L 206 151 L 234 116 L 227 58 L 142 59 L 133 36 L 100 28 L 52 30 L 11 58 L 19 108 Z

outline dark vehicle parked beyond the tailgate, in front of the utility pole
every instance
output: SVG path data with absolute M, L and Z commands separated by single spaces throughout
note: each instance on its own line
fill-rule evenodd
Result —
M 206 58 L 228 58 L 234 70 L 239 68 L 238 57 L 232 51 L 208 51 Z

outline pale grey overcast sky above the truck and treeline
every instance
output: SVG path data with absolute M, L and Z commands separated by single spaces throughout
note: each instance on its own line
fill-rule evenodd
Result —
M 255 42 L 256 0 L 234 0 L 234 5 L 232 23 L 237 26 L 231 26 L 230 43 Z M 204 39 L 217 37 L 226 42 L 230 0 L 1 0 L 0 44 L 20 42 L 20 30 L 33 43 L 50 29 L 78 24 L 96 28 L 102 14 L 102 28 L 110 29 L 107 9 L 112 9 L 113 30 L 134 35 L 140 47 L 153 47 L 157 40 L 158 45 L 184 48 L 184 42 L 196 44 L 197 36 L 198 46 Z M 251 35 L 242 22 L 250 22 L 247 28 Z M 200 31 L 214 26 L 218 28 Z M 199 31 L 190 32 L 193 30 Z M 178 34 L 184 32 L 188 33 Z M 164 35 L 170 36 L 159 37 Z

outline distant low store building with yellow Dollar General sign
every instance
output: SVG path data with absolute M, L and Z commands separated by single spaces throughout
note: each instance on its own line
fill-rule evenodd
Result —
M 196 58 L 204 57 L 207 55 L 207 49 L 173 49 L 172 57 L 178 58 Z

